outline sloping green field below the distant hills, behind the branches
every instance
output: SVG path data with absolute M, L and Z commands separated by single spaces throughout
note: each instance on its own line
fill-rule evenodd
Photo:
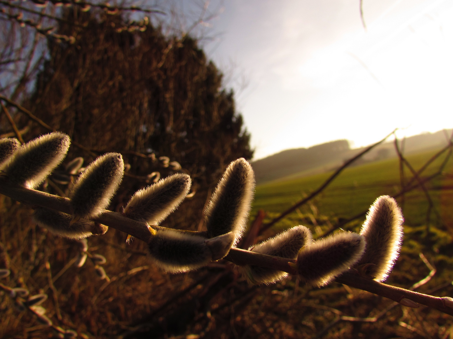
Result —
M 439 151 L 439 150 L 437 150 Z M 407 160 L 415 170 L 418 170 L 437 151 L 429 151 L 410 155 Z M 447 152 L 435 160 L 422 174 L 429 176 L 439 170 Z M 448 160 L 444 167 L 444 175 L 438 176 L 428 184 L 429 194 L 434 202 L 430 224 L 441 228 L 453 228 L 453 161 Z M 262 208 L 268 212 L 268 218 L 278 216 L 281 212 L 292 206 L 295 202 L 313 192 L 333 172 L 316 174 L 312 176 L 278 180 L 256 187 L 255 201 L 252 207 L 252 218 Z M 445 175 L 447 174 L 447 175 Z M 412 175 L 406 168 L 406 181 Z M 337 221 L 338 217 L 349 218 L 366 210 L 374 200 L 383 194 L 395 195 L 401 189 L 399 160 L 397 158 L 381 160 L 365 165 L 345 169 L 318 197 L 313 200 L 312 207 L 306 205 L 299 211 L 287 216 L 276 224 L 276 228 L 287 228 L 298 224 L 312 224 L 314 217 L 322 230 L 327 229 L 329 222 Z M 398 198 L 405 216 L 407 226 L 422 226 L 426 224 L 428 201 L 422 189 L 418 188 L 406 193 L 404 199 Z M 308 217 L 307 217 L 308 216 Z M 362 220 L 349 225 L 360 224 Z M 309 226 L 309 225 L 306 225 Z M 321 230 L 318 228 L 318 233 Z

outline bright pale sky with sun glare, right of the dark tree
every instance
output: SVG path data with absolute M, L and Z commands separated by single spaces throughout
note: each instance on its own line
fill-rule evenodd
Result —
M 366 28 L 359 0 L 209 3 L 202 44 L 254 160 L 453 127 L 453 0 L 363 0 L 363 14 Z

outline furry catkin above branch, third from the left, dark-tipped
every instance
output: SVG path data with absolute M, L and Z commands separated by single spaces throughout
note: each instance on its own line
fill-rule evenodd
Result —
M 94 160 L 77 179 L 70 194 L 74 217 L 99 215 L 110 203 L 124 173 L 119 153 L 107 153 Z

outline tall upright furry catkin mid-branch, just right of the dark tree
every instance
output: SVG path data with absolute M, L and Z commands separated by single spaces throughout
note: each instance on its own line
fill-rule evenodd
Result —
M 239 240 L 246 225 L 254 188 L 255 174 L 251 165 L 244 158 L 231 162 L 205 211 L 210 237 L 233 232 L 235 243 Z

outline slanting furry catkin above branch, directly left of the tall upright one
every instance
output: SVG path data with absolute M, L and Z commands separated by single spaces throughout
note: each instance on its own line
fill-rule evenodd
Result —
M 184 200 L 191 185 L 187 174 L 174 174 L 136 192 L 124 214 L 149 225 L 159 225 Z

